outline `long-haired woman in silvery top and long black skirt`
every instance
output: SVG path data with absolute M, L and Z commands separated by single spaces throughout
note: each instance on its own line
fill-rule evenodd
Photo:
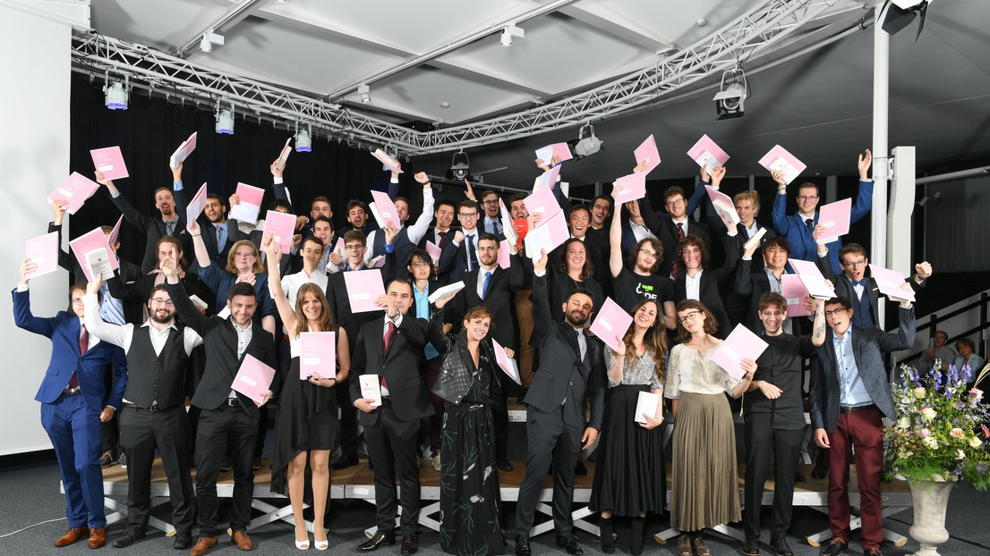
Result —
M 643 416 L 636 415 L 641 392 L 663 396 L 663 370 L 667 350 L 666 327 L 654 301 L 644 300 L 631 311 L 633 325 L 625 337 L 616 336 L 619 349 L 605 349 L 609 396 L 596 454 L 595 480 L 591 488 L 592 510 L 601 511 L 602 551 L 615 551 L 612 516 L 633 518 L 630 551 L 643 553 L 643 529 L 647 511 L 661 513 L 666 493 L 663 469 L 663 404 Z M 640 417 L 644 422 L 637 422 Z

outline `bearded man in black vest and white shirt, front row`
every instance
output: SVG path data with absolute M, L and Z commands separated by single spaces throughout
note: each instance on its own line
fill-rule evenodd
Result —
M 171 261 L 174 266 L 175 261 Z M 174 271 L 173 271 L 174 272 Z M 128 359 L 128 384 L 121 409 L 121 443 L 128 454 L 128 530 L 114 540 L 117 548 L 145 538 L 151 507 L 151 465 L 154 449 L 168 478 L 172 524 L 177 530 L 172 548 L 192 545 L 195 501 L 189 475 L 189 417 L 185 411 L 186 362 L 194 347 L 203 343 L 199 334 L 175 324 L 175 309 L 164 284 L 151 289 L 150 318 L 145 324 L 105 323 L 97 310 L 102 277 L 86 287 L 83 306 L 89 333 L 124 348 Z

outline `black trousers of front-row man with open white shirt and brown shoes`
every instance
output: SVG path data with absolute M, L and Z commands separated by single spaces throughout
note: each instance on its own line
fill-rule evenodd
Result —
M 257 417 L 247 415 L 244 408 L 225 405 L 200 412 L 196 431 L 196 504 L 200 536 L 217 534 L 217 475 L 228 448 L 234 464 L 231 529 L 247 530 L 254 492 L 254 472 L 250 464 L 256 436 Z

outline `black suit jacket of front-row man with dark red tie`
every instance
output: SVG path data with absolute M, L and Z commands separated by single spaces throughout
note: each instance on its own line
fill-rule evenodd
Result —
M 430 323 L 406 315 L 395 330 L 388 351 L 382 352 L 384 343 L 385 317 L 379 315 L 370 323 L 361 324 L 357 333 L 357 345 L 350 359 L 350 376 L 356 379 L 361 375 L 385 377 L 389 398 L 396 417 L 404 421 L 430 417 L 436 412 L 427 395 L 427 382 L 423 374 L 423 348 L 427 344 Z M 350 399 L 359 400 L 360 380 L 350 380 Z M 364 426 L 378 422 L 378 411 L 357 413 Z

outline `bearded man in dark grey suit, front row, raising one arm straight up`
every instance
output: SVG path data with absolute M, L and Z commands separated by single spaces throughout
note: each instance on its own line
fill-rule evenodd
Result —
M 534 261 L 533 336 L 540 350 L 540 370 L 526 394 L 526 475 L 516 505 L 516 555 L 530 556 L 530 529 L 553 466 L 553 528 L 556 545 L 568 554 L 582 554 L 573 535 L 570 507 L 574 498 L 574 461 L 598 437 L 605 400 L 605 361 L 599 340 L 584 335 L 594 300 L 577 290 L 562 304 L 563 322 L 550 318 L 546 287 L 546 252 Z M 584 396 L 591 415 L 584 419 Z M 582 432 L 583 431 L 583 432 Z

